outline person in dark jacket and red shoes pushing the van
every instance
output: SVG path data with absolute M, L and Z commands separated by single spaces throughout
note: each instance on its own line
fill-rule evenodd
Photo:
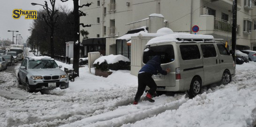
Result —
M 161 66 L 161 60 L 160 56 L 154 56 L 151 60 L 149 60 L 139 71 L 138 73 L 138 90 L 135 95 L 134 99 L 134 105 L 138 104 L 140 97 L 143 95 L 143 92 L 146 88 L 146 86 L 150 87 L 146 99 L 149 102 L 155 102 L 155 100 L 152 99 L 152 95 L 155 94 L 156 91 L 156 83 L 154 79 L 152 79 L 152 75 L 156 75 L 158 72 L 167 75 L 170 72 L 170 68 L 167 68 L 166 71 L 162 70 Z

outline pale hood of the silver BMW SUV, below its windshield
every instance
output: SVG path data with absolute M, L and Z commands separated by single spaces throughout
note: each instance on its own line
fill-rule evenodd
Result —
M 61 75 L 66 74 L 59 68 L 48 68 L 48 69 L 28 69 L 28 72 L 34 76 L 49 76 L 49 75 Z

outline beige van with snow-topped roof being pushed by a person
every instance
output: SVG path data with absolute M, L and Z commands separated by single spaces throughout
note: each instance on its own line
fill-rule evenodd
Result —
M 232 56 L 211 35 L 175 33 L 153 38 L 145 46 L 142 66 L 153 56 L 161 57 L 163 70 L 171 68 L 167 75 L 153 75 L 157 91 L 188 91 L 193 97 L 201 87 L 220 81 L 228 84 L 235 75 Z

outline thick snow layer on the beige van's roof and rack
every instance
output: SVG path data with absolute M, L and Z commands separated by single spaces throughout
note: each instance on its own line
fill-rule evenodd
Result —
M 189 34 L 189 33 L 173 33 L 153 38 L 148 41 L 146 46 L 152 44 L 168 43 L 168 42 L 215 42 L 212 35 Z

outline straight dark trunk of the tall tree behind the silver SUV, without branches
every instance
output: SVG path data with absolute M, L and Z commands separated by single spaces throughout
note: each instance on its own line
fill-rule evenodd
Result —
M 73 69 L 79 76 L 79 54 L 80 54 L 80 40 L 79 40 L 79 0 L 73 0 L 74 3 L 74 59 Z M 78 42 L 78 43 L 77 43 Z

